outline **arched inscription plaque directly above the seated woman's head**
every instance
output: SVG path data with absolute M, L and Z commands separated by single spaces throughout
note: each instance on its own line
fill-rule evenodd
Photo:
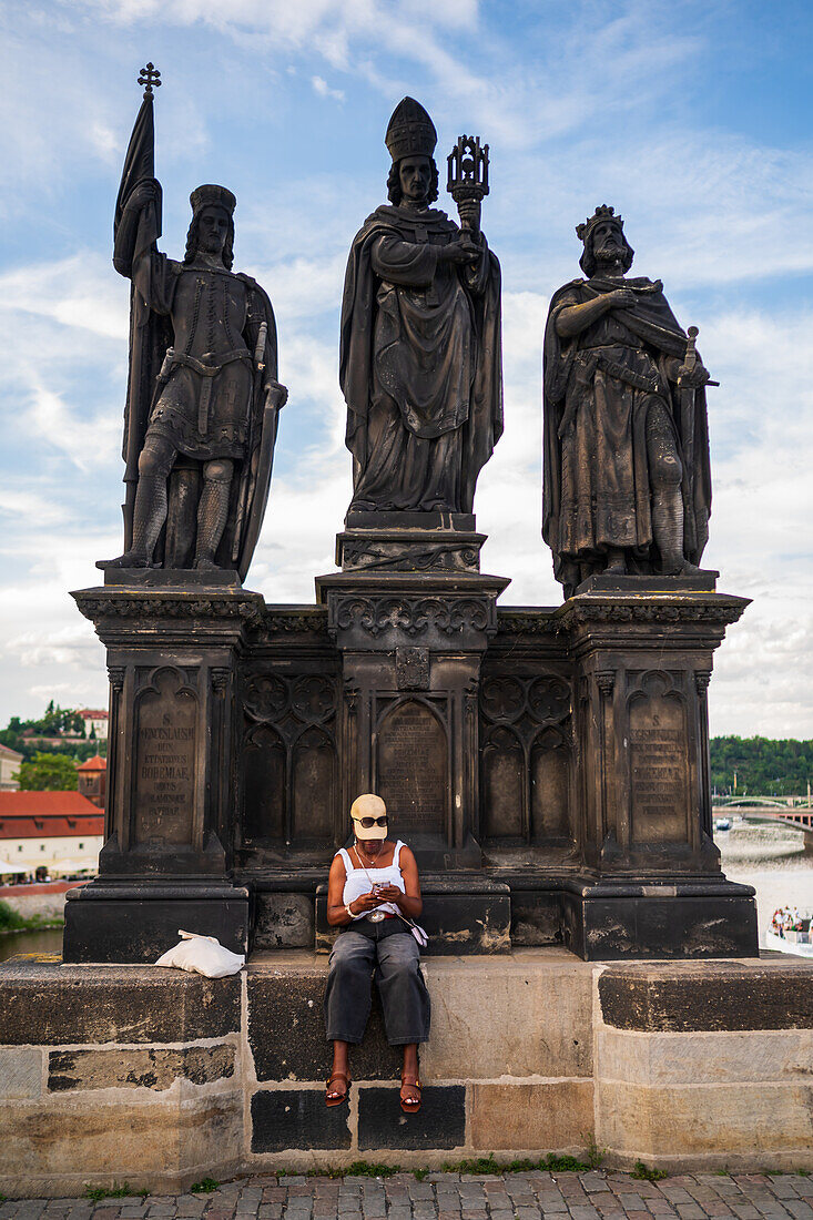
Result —
M 409 700 L 378 731 L 378 794 L 393 833 L 446 836 L 449 791 L 446 732 L 425 704 Z

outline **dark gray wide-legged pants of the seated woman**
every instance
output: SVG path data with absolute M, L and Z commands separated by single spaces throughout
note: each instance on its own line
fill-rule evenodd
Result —
M 420 949 L 411 932 L 389 932 L 389 922 L 364 920 L 374 936 L 353 930 L 337 936 L 325 988 L 328 1042 L 361 1042 L 372 1005 L 374 972 L 387 1042 L 402 1047 L 427 1041 L 431 1009 Z

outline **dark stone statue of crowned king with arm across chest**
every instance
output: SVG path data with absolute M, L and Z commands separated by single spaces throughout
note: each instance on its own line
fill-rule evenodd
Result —
M 576 228 L 585 279 L 551 300 L 544 333 L 542 534 L 569 597 L 591 576 L 697 573 L 712 481 L 709 376 L 659 279 L 627 277 L 624 223 Z

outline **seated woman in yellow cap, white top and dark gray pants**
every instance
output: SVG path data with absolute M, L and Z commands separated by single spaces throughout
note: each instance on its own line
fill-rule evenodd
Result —
M 372 1003 L 371 975 L 381 996 L 387 1041 L 404 1048 L 400 1108 L 421 1105 L 417 1043 L 430 1032 L 430 997 L 420 971 L 420 949 L 406 920 L 422 909 L 415 856 L 387 838 L 387 806 L 366 793 L 350 809 L 355 842 L 333 856 L 327 884 L 327 922 L 339 927 L 330 956 L 325 1025 L 333 1043 L 327 1105 L 341 1105 L 350 1087 L 348 1046 L 356 1046 Z

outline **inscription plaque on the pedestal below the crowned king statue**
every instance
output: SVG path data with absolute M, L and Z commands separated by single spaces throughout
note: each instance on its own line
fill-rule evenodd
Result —
M 682 839 L 687 817 L 684 710 L 678 699 L 653 695 L 630 709 L 632 837 Z

